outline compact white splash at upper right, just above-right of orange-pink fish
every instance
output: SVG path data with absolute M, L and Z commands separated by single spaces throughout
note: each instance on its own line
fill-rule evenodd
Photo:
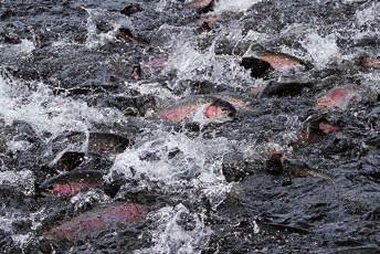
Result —
M 312 55 L 316 66 L 325 67 L 340 55 L 336 40 L 335 34 L 323 38 L 317 33 L 310 33 L 302 41 L 302 45 Z

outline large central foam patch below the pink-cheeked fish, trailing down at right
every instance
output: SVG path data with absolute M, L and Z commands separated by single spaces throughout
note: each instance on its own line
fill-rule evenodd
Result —
M 170 188 L 201 191 L 218 205 L 231 186 L 225 182 L 222 160 L 226 138 L 189 138 L 186 134 L 155 131 L 116 157 L 108 178 L 150 179 Z M 184 189 L 184 188 L 183 188 Z

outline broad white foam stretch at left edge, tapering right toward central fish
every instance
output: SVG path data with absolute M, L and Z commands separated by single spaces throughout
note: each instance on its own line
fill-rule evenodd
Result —
M 53 136 L 68 131 L 87 131 L 94 123 L 114 123 L 122 113 L 110 108 L 97 109 L 86 103 L 56 96 L 43 83 L 24 84 L 0 76 L 0 117 L 29 123 L 38 133 Z

